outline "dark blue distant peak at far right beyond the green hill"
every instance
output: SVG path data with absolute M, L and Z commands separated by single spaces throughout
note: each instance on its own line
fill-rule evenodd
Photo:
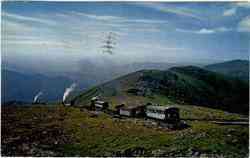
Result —
M 224 75 L 235 77 L 244 81 L 249 81 L 249 61 L 232 60 L 223 63 L 207 65 L 207 70 L 218 72 Z

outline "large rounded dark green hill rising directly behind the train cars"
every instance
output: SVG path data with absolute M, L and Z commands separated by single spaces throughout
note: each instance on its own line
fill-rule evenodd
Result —
M 119 104 L 167 99 L 248 114 L 248 84 L 198 67 L 175 67 L 167 71 L 142 70 L 96 86 L 75 98 L 77 104 L 101 95 Z

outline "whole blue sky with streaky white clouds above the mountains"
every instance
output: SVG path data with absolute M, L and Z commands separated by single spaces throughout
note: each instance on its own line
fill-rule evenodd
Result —
M 250 3 L 19 1 L 2 2 L 1 16 L 2 61 L 37 69 L 249 58 Z M 109 32 L 113 55 L 102 48 Z

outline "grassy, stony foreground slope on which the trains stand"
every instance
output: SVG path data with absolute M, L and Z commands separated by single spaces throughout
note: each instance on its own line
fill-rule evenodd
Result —
M 144 148 L 144 156 L 191 156 L 195 152 L 212 157 L 246 157 L 248 154 L 248 127 L 243 126 L 188 121 L 190 128 L 173 131 L 145 126 L 140 119 L 119 120 L 104 113 L 93 117 L 92 113 L 74 107 L 2 110 L 2 154 L 9 156 L 118 156 L 136 147 Z M 181 110 L 182 118 L 207 116 L 241 117 L 196 106 L 185 106 Z M 16 139 L 10 141 L 11 138 Z M 33 153 L 24 148 L 25 145 L 33 149 Z

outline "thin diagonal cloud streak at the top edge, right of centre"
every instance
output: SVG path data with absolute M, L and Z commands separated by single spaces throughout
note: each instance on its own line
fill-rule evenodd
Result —
M 204 20 L 202 17 L 198 16 L 196 12 L 194 12 L 194 10 L 188 8 L 168 7 L 160 3 L 138 3 L 138 5 L 148 7 L 164 13 L 172 13 L 179 16 L 193 18 L 196 20 Z

